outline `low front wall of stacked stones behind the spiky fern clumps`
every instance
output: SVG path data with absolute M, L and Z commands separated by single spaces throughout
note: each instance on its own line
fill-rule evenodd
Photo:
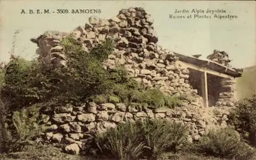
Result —
M 47 128 L 42 138 L 50 143 L 67 144 L 65 150 L 71 154 L 78 154 L 83 145 L 93 140 L 95 133 L 105 132 L 107 128 L 116 127 L 127 121 L 143 121 L 151 118 L 182 123 L 189 127 L 189 141 L 197 141 L 201 135 L 208 132 L 206 121 L 186 108 L 150 109 L 139 104 L 126 106 L 118 102 L 103 104 L 90 102 L 81 106 L 67 104 L 54 110 L 44 108 L 42 112 L 41 125 Z

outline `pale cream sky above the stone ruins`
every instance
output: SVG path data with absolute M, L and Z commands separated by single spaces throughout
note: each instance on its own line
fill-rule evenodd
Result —
M 215 49 L 225 51 L 234 67 L 255 65 L 256 27 L 253 1 L 1 1 L 0 61 L 8 61 L 15 30 L 15 53 L 26 59 L 35 57 L 36 44 L 30 41 L 47 30 L 70 32 L 88 23 L 92 15 L 110 19 L 121 9 L 143 7 L 154 19 L 153 26 L 163 48 L 184 55 L 202 54 Z M 224 9 L 221 15 L 237 15 L 234 19 L 171 19 L 176 9 Z M 20 14 L 24 9 L 100 9 L 100 14 Z M 185 13 L 189 15 L 194 13 Z M 205 14 L 205 13 L 200 13 Z M 177 15 L 177 14 L 176 14 Z M 209 15 L 209 14 L 207 14 Z

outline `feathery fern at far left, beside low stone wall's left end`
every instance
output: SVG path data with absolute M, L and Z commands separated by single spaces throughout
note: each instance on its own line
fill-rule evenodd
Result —
M 6 123 L 3 130 L 4 141 L 2 152 L 15 152 L 21 151 L 29 144 L 33 144 L 34 138 L 36 138 L 41 131 L 39 121 L 39 107 L 32 105 L 29 108 L 14 111 L 8 125 Z

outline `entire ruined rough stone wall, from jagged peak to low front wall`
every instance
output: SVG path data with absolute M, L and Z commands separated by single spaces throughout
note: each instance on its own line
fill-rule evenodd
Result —
M 90 24 L 79 26 L 71 34 L 77 39 L 85 51 L 89 51 L 97 43 L 111 37 L 115 41 L 115 51 L 104 62 L 106 70 L 123 64 L 130 76 L 147 87 L 159 88 L 168 95 L 193 95 L 195 101 L 184 102 L 175 109 L 149 109 L 141 106 L 125 106 L 122 103 L 95 104 L 93 102 L 81 106 L 60 106 L 56 110 L 42 110 L 43 124 L 48 130 L 42 138 L 50 143 L 67 143 L 66 151 L 72 146 L 81 146 L 91 140 L 91 134 L 105 131 L 128 120 L 165 118 L 173 122 L 189 125 L 190 141 L 197 141 L 207 134 L 212 126 L 226 126 L 228 111 L 220 108 L 204 108 L 202 97 L 192 89 L 188 78 L 189 70 L 178 64 L 178 58 L 171 51 L 162 49 L 154 31 L 150 14 L 143 8 L 122 9 L 111 19 L 95 16 L 89 18 Z M 66 66 L 65 51 L 60 40 L 69 35 L 62 32 L 46 32 L 31 41 L 38 45 L 38 59 L 49 66 Z M 226 82 L 223 82 L 223 85 Z M 220 97 L 219 102 L 228 98 Z M 218 113 L 213 113 L 219 109 Z M 199 110 L 199 111 L 198 111 Z

